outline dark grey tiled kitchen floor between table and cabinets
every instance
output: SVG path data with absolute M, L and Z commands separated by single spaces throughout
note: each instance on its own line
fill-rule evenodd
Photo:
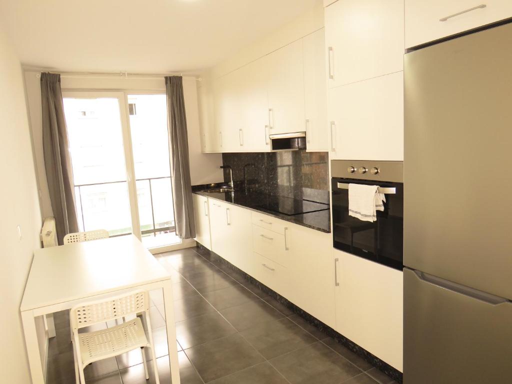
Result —
M 391 384 L 388 376 L 319 332 L 242 276 L 196 248 L 156 255 L 172 274 L 182 384 Z M 163 296 L 151 292 L 160 382 L 170 382 Z M 67 311 L 55 314 L 49 384 L 75 380 Z M 110 324 L 99 327 L 107 327 Z M 154 384 L 132 351 L 86 368 L 87 384 Z

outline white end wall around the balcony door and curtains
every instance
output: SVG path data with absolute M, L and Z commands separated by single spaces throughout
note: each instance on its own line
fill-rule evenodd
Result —
M 41 196 L 41 208 L 43 217 L 52 216 L 48 185 L 42 153 L 42 126 L 41 126 L 41 87 L 40 79 L 36 75 L 40 71 L 26 70 L 25 84 L 29 103 L 30 121 L 34 142 L 34 156 L 37 166 L 37 175 Z M 129 90 L 137 93 L 137 90 L 165 92 L 163 78 L 133 77 L 120 78 L 112 76 L 62 76 L 62 89 L 69 90 Z M 183 79 L 183 93 L 188 129 L 188 146 L 190 159 L 190 177 L 192 184 L 207 184 L 223 180 L 221 169 L 222 156 L 220 154 L 201 153 L 199 132 L 199 111 L 197 102 L 196 80 Z

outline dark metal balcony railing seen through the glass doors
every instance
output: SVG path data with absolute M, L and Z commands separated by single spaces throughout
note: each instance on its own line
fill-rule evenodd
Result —
M 111 237 L 132 232 L 130 203 L 123 183 L 126 181 L 75 185 L 82 230 L 105 228 Z M 136 179 L 136 183 L 142 236 L 175 232 L 170 177 Z

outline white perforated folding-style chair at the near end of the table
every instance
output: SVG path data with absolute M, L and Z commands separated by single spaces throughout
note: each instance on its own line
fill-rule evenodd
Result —
M 83 369 L 91 362 L 140 348 L 146 380 L 150 378 L 147 372 L 147 362 L 144 348 L 149 348 L 155 372 L 156 384 L 160 384 L 158 377 L 157 360 L 153 347 L 151 324 L 148 321 L 150 311 L 150 297 L 147 291 L 135 291 L 122 296 L 109 298 L 109 300 L 82 303 L 71 309 L 71 330 L 73 333 L 73 351 L 75 355 L 75 377 L 77 384 L 86 384 Z M 120 317 L 136 315 L 121 325 L 94 332 L 78 330 L 94 324 L 105 323 Z M 145 328 L 140 317 L 142 314 Z M 147 337 L 146 337 L 147 331 Z

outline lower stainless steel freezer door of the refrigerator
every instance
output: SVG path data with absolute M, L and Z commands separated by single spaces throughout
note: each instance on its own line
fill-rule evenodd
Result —
M 404 383 L 510 382 L 512 303 L 441 287 L 408 268 L 403 283 Z

